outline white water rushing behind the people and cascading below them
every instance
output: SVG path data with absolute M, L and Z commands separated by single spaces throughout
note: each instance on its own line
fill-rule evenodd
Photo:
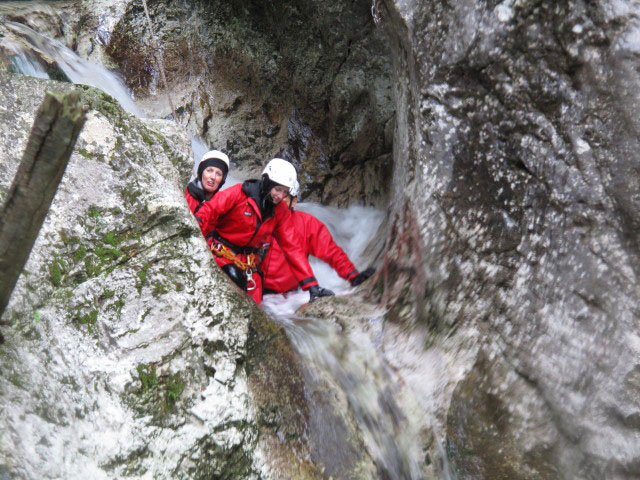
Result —
M 314 203 L 302 203 L 299 209 L 322 220 L 354 264 L 360 270 L 366 268 L 363 252 L 382 222 L 380 211 L 358 206 L 337 209 Z M 353 290 L 325 263 L 313 257 L 310 263 L 323 287 L 337 295 Z M 369 334 L 355 329 L 345 335 L 337 322 L 298 317 L 297 308 L 308 299 L 309 294 L 302 291 L 266 295 L 264 305 L 270 316 L 285 328 L 311 375 L 318 382 L 328 376 L 344 392 L 381 478 L 423 478 L 420 452 L 416 451 L 417 432 L 411 431 L 408 419 L 395 400 L 394 380 L 380 356 L 384 335 L 382 318 L 369 320 Z

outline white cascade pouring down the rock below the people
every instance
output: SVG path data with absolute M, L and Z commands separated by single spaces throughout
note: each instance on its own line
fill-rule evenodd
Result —
M 422 454 L 415 426 L 396 401 L 400 389 L 389 374 L 375 338 L 367 334 L 347 336 L 336 323 L 326 319 L 296 318 L 280 313 L 276 321 L 285 328 L 302 356 L 311 382 L 322 385 L 330 379 L 344 393 L 380 478 L 422 479 Z M 374 323 L 381 321 L 381 318 L 372 319 Z M 313 410 L 315 405 L 313 399 L 310 400 Z M 321 438 L 325 433 L 323 429 L 328 430 L 327 437 L 330 437 L 330 424 L 321 422 L 316 428 Z

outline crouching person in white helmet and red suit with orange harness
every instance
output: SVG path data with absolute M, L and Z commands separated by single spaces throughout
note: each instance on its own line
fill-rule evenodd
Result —
M 196 219 L 218 266 L 257 303 L 262 302 L 260 260 L 273 236 L 298 285 L 309 291 L 310 301 L 333 295 L 318 285 L 282 200 L 296 181 L 289 162 L 274 158 L 260 180 L 247 180 L 217 193 L 203 203 Z

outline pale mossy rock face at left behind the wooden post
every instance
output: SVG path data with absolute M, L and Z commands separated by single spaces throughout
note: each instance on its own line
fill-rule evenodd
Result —
M 0 72 L 0 201 L 45 89 L 71 88 L 87 122 L 0 321 L 0 477 L 321 478 L 296 413 L 304 373 L 215 267 L 173 122 Z

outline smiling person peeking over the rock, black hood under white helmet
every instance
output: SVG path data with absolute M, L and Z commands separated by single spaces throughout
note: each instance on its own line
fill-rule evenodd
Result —
M 197 175 L 187 185 L 184 195 L 194 215 L 224 185 L 229 173 L 229 157 L 219 150 L 205 153 L 198 163 Z

